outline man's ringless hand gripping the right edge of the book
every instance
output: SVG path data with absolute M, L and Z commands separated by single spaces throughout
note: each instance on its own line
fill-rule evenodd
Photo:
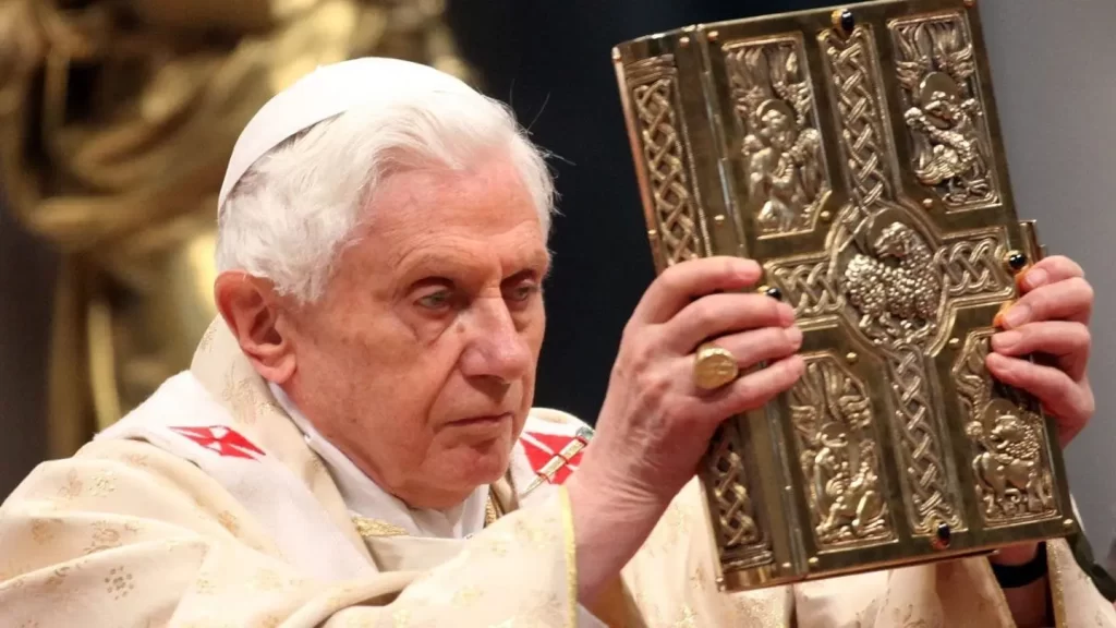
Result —
M 1058 424 L 1062 447 L 1093 417 L 1096 407 L 1086 367 L 1093 286 L 1067 257 L 1048 257 L 1018 278 L 1022 296 L 1002 311 L 992 336 L 988 369 L 1001 382 L 1035 396 Z M 1029 361 L 1043 355 L 1045 363 Z

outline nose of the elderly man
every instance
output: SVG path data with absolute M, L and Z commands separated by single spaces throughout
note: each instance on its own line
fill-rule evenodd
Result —
M 503 298 L 477 299 L 466 318 L 461 365 L 466 377 L 511 382 L 530 370 L 533 356 Z

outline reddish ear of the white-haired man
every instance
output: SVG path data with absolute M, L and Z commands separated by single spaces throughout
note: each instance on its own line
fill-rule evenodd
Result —
M 282 320 L 287 313 L 271 282 L 242 270 L 221 273 L 213 284 L 213 299 L 260 377 L 282 384 L 295 374 L 290 326 Z

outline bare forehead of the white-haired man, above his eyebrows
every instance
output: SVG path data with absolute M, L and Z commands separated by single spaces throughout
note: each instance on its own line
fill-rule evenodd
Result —
M 414 258 L 531 258 L 546 237 L 529 189 L 507 159 L 465 171 L 416 170 L 387 178 L 368 207 L 366 237 L 393 267 Z M 522 259 L 529 261 L 529 259 Z

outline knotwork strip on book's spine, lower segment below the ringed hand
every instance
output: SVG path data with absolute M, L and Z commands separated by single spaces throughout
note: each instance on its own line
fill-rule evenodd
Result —
M 744 460 L 737 450 L 737 426 L 725 424 L 713 437 L 705 458 L 705 485 L 711 487 L 714 516 L 723 535 L 722 558 L 741 567 L 772 560 L 770 544 L 756 522 L 756 507 L 748 494 Z

